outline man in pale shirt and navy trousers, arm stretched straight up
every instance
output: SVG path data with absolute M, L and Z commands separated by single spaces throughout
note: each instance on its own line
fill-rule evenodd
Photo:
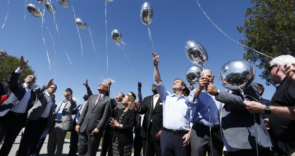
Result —
M 153 54 L 155 66 L 155 86 L 163 101 L 163 131 L 160 135 L 162 155 L 189 155 L 190 127 L 192 108 L 185 103 L 183 90 L 186 84 L 175 79 L 170 94 L 161 82 L 158 70 L 159 56 Z

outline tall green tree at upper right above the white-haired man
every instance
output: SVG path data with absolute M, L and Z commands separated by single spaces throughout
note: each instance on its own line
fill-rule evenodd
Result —
M 294 0 L 250 0 L 253 8 L 247 8 L 244 27 L 237 26 L 244 33 L 245 40 L 240 40 L 252 49 L 270 57 L 280 55 L 295 56 L 295 1 Z M 264 69 L 259 75 L 266 80 L 266 85 L 273 83 L 267 68 L 268 58 L 245 47 L 244 59 L 250 60 L 256 67 Z

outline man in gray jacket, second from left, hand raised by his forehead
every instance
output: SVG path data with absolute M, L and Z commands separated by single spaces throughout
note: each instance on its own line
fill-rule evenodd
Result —
M 44 92 L 47 89 L 47 92 Z M 49 127 L 55 104 L 52 94 L 57 89 L 51 79 L 47 85 L 41 86 L 36 90 L 37 99 L 34 106 L 28 112 L 28 121 L 22 141 L 19 145 L 17 156 L 30 156 L 33 152 L 30 147 L 35 147 L 44 132 Z

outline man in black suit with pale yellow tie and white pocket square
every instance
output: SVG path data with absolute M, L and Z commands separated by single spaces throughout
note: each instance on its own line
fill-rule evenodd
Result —
M 142 106 L 137 103 L 135 107 L 140 111 L 139 114 L 145 114 L 140 130 L 144 156 L 161 156 L 160 135 L 163 128 L 163 102 L 159 98 L 155 84 L 152 84 L 152 92 L 153 95 L 143 99 Z

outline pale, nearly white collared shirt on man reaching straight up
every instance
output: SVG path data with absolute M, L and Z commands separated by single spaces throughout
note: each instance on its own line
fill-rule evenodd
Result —
M 171 130 L 189 130 L 192 108 L 185 103 L 186 97 L 170 94 L 163 83 L 155 83 L 156 89 L 163 102 L 163 127 Z

